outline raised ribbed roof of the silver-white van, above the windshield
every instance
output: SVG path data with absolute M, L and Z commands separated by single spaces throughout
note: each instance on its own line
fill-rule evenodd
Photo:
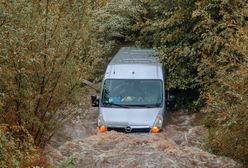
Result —
M 109 63 L 105 79 L 163 80 L 163 66 L 153 49 L 123 47 Z

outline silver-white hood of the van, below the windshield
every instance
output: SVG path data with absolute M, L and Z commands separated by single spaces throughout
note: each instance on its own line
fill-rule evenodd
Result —
M 107 127 L 151 128 L 161 108 L 100 108 Z

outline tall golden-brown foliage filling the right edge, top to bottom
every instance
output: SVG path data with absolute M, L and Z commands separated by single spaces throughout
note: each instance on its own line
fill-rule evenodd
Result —
M 199 2 L 194 17 L 201 36 L 197 50 L 202 95 L 207 100 L 207 147 L 216 154 L 248 163 L 248 38 L 245 1 Z

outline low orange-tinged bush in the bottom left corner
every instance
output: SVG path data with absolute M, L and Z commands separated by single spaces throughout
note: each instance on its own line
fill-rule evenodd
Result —
M 29 167 L 38 160 L 38 150 L 27 130 L 19 126 L 0 126 L 0 167 Z

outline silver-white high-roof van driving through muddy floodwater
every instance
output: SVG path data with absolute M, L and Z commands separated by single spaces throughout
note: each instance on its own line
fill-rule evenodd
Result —
M 100 99 L 92 96 L 99 131 L 159 132 L 168 104 L 163 72 L 153 49 L 121 48 L 107 67 Z

